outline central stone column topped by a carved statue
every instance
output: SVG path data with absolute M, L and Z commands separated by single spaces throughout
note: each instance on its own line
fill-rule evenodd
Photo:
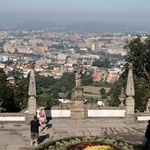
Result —
M 82 87 L 82 66 L 78 66 L 74 70 L 76 87 L 75 94 L 73 97 L 74 105 L 71 107 L 71 119 L 85 119 L 86 118 L 86 109 L 84 107 L 84 96 L 83 96 L 83 87 Z

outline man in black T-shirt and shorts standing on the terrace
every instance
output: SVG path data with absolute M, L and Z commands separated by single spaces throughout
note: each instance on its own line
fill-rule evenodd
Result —
M 40 126 L 40 123 L 37 120 L 37 116 L 34 116 L 33 120 L 31 120 L 30 122 L 31 145 L 33 144 L 35 144 L 35 146 L 38 145 L 39 126 Z

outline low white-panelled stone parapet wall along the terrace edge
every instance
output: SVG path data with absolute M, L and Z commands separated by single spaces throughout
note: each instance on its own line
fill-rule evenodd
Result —
M 39 110 L 37 110 L 38 113 Z M 125 118 L 125 109 L 119 107 L 95 107 L 86 108 L 87 118 Z M 48 118 L 70 118 L 71 110 L 69 107 L 52 107 L 45 110 Z M 26 112 L 22 113 L 0 113 L 0 122 L 25 122 Z M 150 120 L 150 113 L 135 113 L 138 122 L 145 122 Z

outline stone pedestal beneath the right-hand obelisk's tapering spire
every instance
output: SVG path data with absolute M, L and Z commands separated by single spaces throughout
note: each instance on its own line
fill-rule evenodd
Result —
M 125 123 L 135 123 L 136 122 L 136 115 L 134 113 L 134 98 L 127 97 L 126 98 L 126 113 L 125 113 Z

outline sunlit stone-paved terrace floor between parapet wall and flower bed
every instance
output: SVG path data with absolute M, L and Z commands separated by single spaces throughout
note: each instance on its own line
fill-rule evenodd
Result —
M 147 122 L 126 125 L 118 119 L 52 119 L 40 142 L 69 136 L 112 136 L 142 144 Z M 0 150 L 30 149 L 30 126 L 25 123 L 0 123 Z M 49 135 L 49 136 L 48 136 Z

